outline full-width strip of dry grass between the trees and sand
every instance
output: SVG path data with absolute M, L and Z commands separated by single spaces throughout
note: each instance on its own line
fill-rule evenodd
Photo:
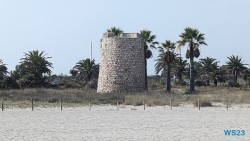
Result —
M 166 94 L 164 90 L 151 90 L 144 93 L 113 93 L 97 94 L 96 90 L 83 89 L 23 89 L 23 90 L 1 90 L 0 98 L 4 99 L 5 107 L 30 107 L 31 99 L 34 99 L 38 107 L 59 107 L 60 98 L 63 99 L 65 107 L 84 106 L 89 104 L 119 104 L 163 106 L 169 105 L 172 99 L 172 106 L 179 106 L 182 103 L 197 105 L 200 98 L 203 106 L 209 103 L 219 102 L 230 104 L 250 104 L 249 88 L 230 87 L 196 87 L 196 94 L 184 94 L 187 87 L 175 86 L 172 93 Z M 202 106 L 202 105 L 201 105 Z

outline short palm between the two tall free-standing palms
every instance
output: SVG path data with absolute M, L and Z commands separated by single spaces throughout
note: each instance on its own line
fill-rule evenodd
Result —
M 187 66 L 187 60 L 183 60 L 182 57 L 178 57 L 174 64 L 173 64 L 173 70 L 175 75 L 178 77 L 179 83 L 183 82 L 182 75 L 185 72 L 185 67 Z

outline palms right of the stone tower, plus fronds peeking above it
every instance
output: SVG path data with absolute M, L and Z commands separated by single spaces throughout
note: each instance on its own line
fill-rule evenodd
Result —
M 120 36 L 123 30 L 112 27 L 107 30 L 113 32 L 115 36 Z M 232 55 L 228 58 L 225 65 L 219 66 L 214 58 L 201 58 L 199 61 L 194 61 L 194 58 L 200 56 L 200 46 L 207 45 L 205 42 L 205 34 L 200 33 L 198 29 L 187 27 L 184 32 L 179 35 L 180 40 L 172 42 L 166 40 L 159 44 L 156 41 L 156 35 L 153 35 L 149 30 L 141 30 L 144 41 L 144 56 L 145 56 L 145 82 L 147 84 L 147 59 L 151 58 L 153 53 L 150 49 L 157 49 L 159 55 L 155 64 L 156 74 L 161 74 L 161 78 L 165 80 L 166 92 L 171 92 L 171 78 L 174 78 L 176 85 L 189 85 L 187 93 L 195 93 L 195 86 L 213 86 L 218 84 L 226 84 L 232 87 L 239 87 L 238 77 L 243 78 L 245 85 L 249 87 L 250 69 L 242 61 L 238 55 Z M 183 59 L 180 54 L 181 47 L 187 47 L 185 53 L 186 59 Z M 177 52 L 179 51 L 179 52 Z M 185 80 L 184 80 L 185 78 Z

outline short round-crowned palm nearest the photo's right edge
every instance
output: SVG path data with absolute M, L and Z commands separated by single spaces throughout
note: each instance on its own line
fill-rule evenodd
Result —
M 243 64 L 242 58 L 239 57 L 238 55 L 237 56 L 232 55 L 227 58 L 229 59 L 229 61 L 226 62 L 227 69 L 229 73 L 233 75 L 233 82 L 237 83 L 238 76 L 242 74 L 245 69 L 247 69 L 245 65 L 248 64 Z

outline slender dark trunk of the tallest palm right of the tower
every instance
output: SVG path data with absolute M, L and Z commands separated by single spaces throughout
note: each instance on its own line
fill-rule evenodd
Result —
M 190 46 L 190 93 L 195 93 L 194 88 L 194 48 Z

